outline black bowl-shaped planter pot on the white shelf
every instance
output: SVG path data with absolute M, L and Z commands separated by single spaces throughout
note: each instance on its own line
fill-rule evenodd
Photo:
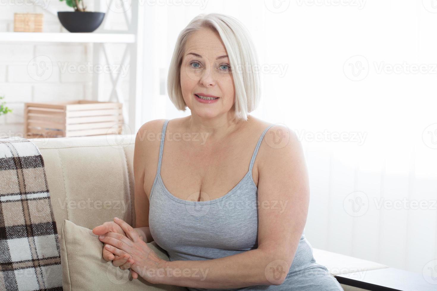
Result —
M 59 21 L 69 32 L 93 32 L 102 24 L 104 17 L 103 12 L 58 12 Z

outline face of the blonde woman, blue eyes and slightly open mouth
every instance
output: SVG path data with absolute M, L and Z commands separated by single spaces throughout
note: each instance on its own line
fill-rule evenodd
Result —
M 187 39 L 180 86 L 192 114 L 211 118 L 231 110 L 235 103 L 234 82 L 225 45 L 217 32 L 202 28 Z M 218 99 L 204 100 L 198 95 Z

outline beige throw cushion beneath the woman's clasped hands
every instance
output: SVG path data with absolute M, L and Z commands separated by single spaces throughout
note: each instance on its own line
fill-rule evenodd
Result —
M 151 284 L 142 277 L 129 281 L 130 270 L 121 270 L 102 257 L 103 243 L 91 229 L 65 219 L 61 236 L 62 287 L 79 290 L 188 291 L 185 287 Z M 155 241 L 147 243 L 158 257 L 169 260 Z

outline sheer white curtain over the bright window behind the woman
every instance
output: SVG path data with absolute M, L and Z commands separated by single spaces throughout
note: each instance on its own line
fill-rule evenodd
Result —
M 251 114 L 284 123 L 305 149 L 312 246 L 426 272 L 437 260 L 437 7 L 188 2 L 146 7 L 144 121 L 190 114 L 166 95 L 175 41 L 188 22 L 210 12 L 239 18 L 263 68 L 262 102 Z

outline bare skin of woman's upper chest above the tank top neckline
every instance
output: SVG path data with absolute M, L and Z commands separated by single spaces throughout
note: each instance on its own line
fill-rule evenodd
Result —
M 253 183 L 258 185 L 257 161 L 249 173 L 253 150 L 254 148 L 247 147 L 242 142 L 205 150 L 166 140 L 158 178 L 161 179 L 164 188 L 178 199 L 218 199 L 232 191 L 243 178 L 252 179 Z M 151 189 L 157 164 L 148 163 L 146 167 L 144 188 Z M 150 199 L 149 191 L 146 193 Z

